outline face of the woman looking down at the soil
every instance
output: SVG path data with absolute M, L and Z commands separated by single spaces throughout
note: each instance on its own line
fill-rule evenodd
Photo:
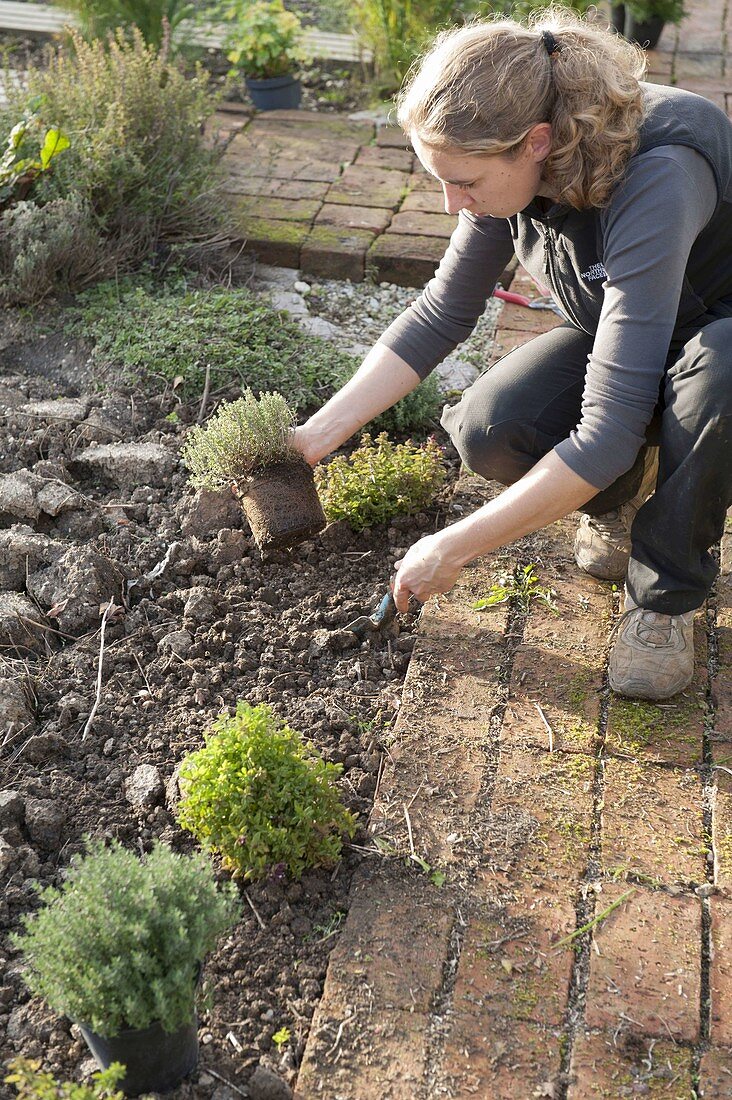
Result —
M 478 217 L 510 218 L 542 190 L 542 167 L 551 147 L 548 122 L 535 125 L 515 154 L 470 154 L 425 145 L 412 134 L 425 169 L 443 185 L 445 210 L 469 210 Z

